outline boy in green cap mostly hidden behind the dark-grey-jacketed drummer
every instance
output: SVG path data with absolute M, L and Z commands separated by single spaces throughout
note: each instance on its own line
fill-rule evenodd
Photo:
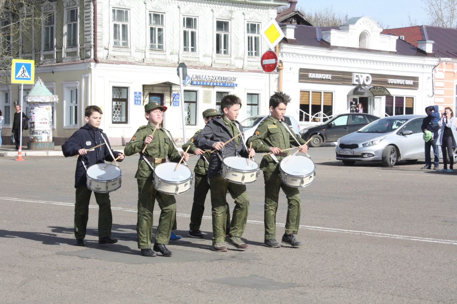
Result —
M 203 111 L 203 121 L 207 124 L 211 119 L 221 116 L 215 109 L 207 109 Z M 200 155 L 200 159 L 197 160 L 195 165 L 195 191 L 194 191 L 194 202 L 192 204 L 191 211 L 191 223 L 189 224 L 189 237 L 203 238 L 203 233 L 200 231 L 200 225 L 202 224 L 203 211 L 205 211 L 205 199 L 209 191 L 209 184 L 207 180 L 208 164 L 211 154 L 199 149 L 195 146 L 194 140 L 197 135 L 202 131 L 198 130 L 194 136 L 182 145 L 182 149 L 186 150 L 190 146 L 188 152 Z M 230 211 L 227 208 L 227 223 L 226 227 L 230 227 Z

